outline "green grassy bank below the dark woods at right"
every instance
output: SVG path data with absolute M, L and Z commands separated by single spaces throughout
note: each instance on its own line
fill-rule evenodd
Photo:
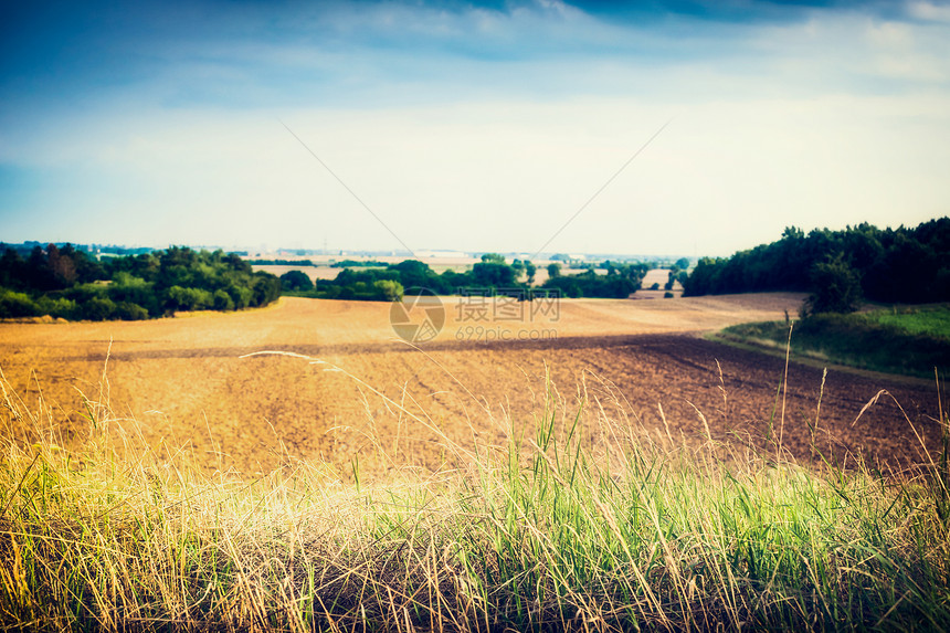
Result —
M 766 321 L 731 326 L 719 333 L 726 340 L 784 350 L 789 323 Z M 950 370 L 950 308 L 905 308 L 863 314 L 821 314 L 794 321 L 793 356 L 921 378 L 935 368 Z

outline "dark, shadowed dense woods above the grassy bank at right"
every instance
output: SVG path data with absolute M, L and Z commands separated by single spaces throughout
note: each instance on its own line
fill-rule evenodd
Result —
M 777 242 L 730 257 L 704 257 L 684 296 L 811 292 L 811 312 L 848 312 L 861 298 L 883 303 L 950 300 L 950 218 L 916 228 L 843 231 L 794 226 Z

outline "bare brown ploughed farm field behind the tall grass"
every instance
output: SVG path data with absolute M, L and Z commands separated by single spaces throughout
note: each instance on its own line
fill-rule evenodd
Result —
M 0 325 L 0 369 L 31 409 L 62 410 L 71 425 L 42 430 L 68 445 L 84 425 L 80 392 L 107 402 L 152 446 L 197 465 L 267 472 L 288 460 L 319 458 L 341 476 L 451 464 L 444 439 L 500 441 L 534 426 L 548 379 L 564 424 L 629 420 L 657 441 L 696 441 L 708 426 L 761 437 L 769 421 L 782 445 L 810 456 L 821 369 L 707 341 L 727 325 L 783 319 L 801 295 L 764 294 L 653 302 L 561 299 L 557 313 L 476 320 L 444 297 L 445 325 L 433 340 L 398 339 L 389 304 L 283 298 L 233 314 L 136 323 Z M 471 306 L 469 306 L 471 307 Z M 530 306 L 528 306 L 529 308 Z M 260 355 L 265 350 L 303 355 Z M 105 369 L 105 380 L 103 380 Z M 937 390 L 923 381 L 827 374 L 816 436 L 837 455 L 861 452 L 897 466 L 919 458 L 914 430 L 937 436 Z M 661 415 L 661 407 L 663 416 Z M 605 413 L 601 413 L 601 411 Z M 701 413 L 701 415 L 700 415 Z M 665 422 L 664 422 L 665 416 Z M 705 422 L 704 422 L 705 419 Z M 9 416 L 4 434 L 32 432 Z

